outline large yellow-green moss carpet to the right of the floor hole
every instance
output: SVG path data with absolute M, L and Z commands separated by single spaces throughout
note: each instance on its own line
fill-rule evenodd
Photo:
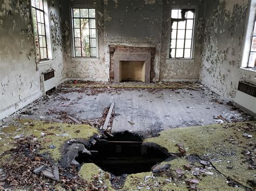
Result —
M 215 168 L 225 176 L 248 185 L 247 180 L 252 180 L 254 170 L 248 169 L 244 152 L 251 150 L 251 143 L 255 143 L 255 132 L 248 132 L 253 138 L 242 136 L 247 126 L 253 126 L 255 122 L 227 123 L 190 128 L 178 128 L 164 130 L 159 137 L 145 139 L 144 142 L 152 142 L 167 148 L 170 153 L 179 153 L 176 144 L 183 144 L 186 154 L 197 154 L 201 158 L 210 160 Z M 254 152 L 254 151 L 252 151 Z M 232 166 L 228 169 L 227 166 Z

